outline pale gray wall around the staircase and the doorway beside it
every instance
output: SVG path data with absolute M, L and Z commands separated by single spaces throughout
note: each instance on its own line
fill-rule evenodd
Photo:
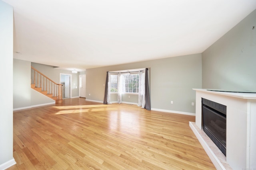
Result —
M 72 74 L 68 70 L 60 70 L 44 64 L 13 59 L 13 109 L 29 108 L 55 102 L 31 89 L 31 65 L 57 83 L 60 81 L 60 73 Z M 72 97 L 79 96 L 78 74 L 72 74 L 72 85 Z

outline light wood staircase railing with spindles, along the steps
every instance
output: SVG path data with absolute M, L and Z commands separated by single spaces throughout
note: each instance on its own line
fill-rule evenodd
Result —
M 62 103 L 62 84 L 57 84 L 32 66 L 31 88 L 52 98 L 56 103 Z

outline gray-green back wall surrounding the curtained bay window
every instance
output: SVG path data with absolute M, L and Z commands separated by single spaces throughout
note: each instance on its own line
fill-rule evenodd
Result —
M 86 99 L 103 101 L 107 71 L 135 68 L 150 68 L 152 108 L 195 113 L 191 103 L 196 93 L 192 88 L 202 88 L 201 54 L 87 69 Z

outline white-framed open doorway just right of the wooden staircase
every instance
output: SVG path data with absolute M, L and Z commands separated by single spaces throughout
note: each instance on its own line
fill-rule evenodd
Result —
M 60 73 L 60 84 L 62 84 L 62 98 L 67 99 L 71 97 L 71 74 Z

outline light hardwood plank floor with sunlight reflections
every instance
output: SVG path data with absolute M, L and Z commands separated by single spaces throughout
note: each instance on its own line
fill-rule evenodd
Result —
M 213 170 L 189 127 L 194 116 L 84 98 L 14 111 L 8 170 Z

